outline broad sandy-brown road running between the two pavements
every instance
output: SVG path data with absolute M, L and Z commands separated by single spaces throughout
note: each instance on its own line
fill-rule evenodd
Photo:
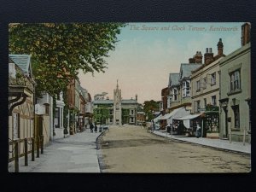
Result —
M 155 136 L 139 126 L 111 126 L 100 138 L 102 172 L 250 172 L 250 154 Z

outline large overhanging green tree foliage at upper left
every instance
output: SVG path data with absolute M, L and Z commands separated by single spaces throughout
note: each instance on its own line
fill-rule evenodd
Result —
M 10 24 L 9 53 L 32 55 L 37 92 L 51 96 L 84 73 L 104 73 L 122 23 Z

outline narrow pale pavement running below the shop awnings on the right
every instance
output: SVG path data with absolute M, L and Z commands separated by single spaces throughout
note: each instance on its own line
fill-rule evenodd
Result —
M 203 146 L 218 148 L 223 150 L 228 150 L 237 153 L 251 154 L 251 143 L 242 143 L 242 142 L 231 142 L 225 139 L 219 138 L 208 138 L 208 137 L 186 137 L 186 136 L 176 136 L 170 135 L 166 131 L 154 131 L 155 135 L 166 137 L 170 139 L 175 139 L 178 141 L 186 143 L 196 143 Z

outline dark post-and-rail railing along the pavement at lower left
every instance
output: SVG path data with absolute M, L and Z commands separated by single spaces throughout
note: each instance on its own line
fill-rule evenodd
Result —
M 36 144 L 36 145 L 35 145 Z M 21 148 L 22 146 L 22 153 Z M 28 149 L 28 146 L 30 146 Z M 15 172 L 19 172 L 20 157 L 24 156 L 24 165 L 28 166 L 28 154 L 32 154 L 32 161 L 35 161 L 35 149 L 37 151 L 37 157 L 39 157 L 40 149 L 41 154 L 44 154 L 44 136 L 37 137 L 28 137 L 23 139 L 9 139 L 9 162 L 15 161 Z M 10 155 L 11 154 L 11 155 Z

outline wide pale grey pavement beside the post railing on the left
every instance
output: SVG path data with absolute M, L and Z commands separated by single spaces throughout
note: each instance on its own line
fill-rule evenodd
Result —
M 103 132 L 90 133 L 90 129 L 74 135 L 55 139 L 44 148 L 44 154 L 32 161 L 28 155 L 28 166 L 24 157 L 19 160 L 19 172 L 101 172 L 98 162 L 96 138 Z M 9 172 L 15 172 L 14 161 L 9 163 Z

